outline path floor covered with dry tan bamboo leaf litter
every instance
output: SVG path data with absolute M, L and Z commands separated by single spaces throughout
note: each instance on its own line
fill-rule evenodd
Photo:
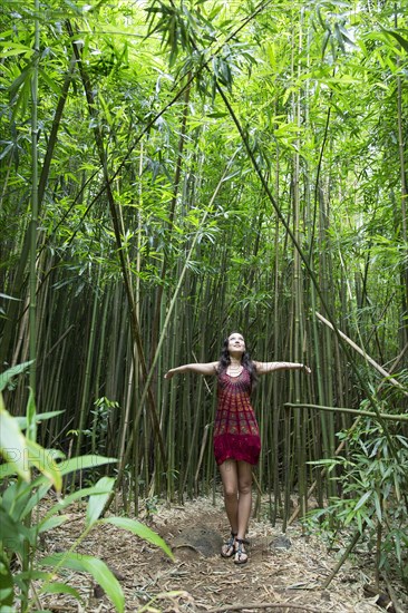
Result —
M 70 520 L 47 535 L 43 553 L 67 549 L 84 525 L 84 510 L 72 507 Z M 377 595 L 365 596 L 365 584 L 372 583 L 370 564 L 361 567 L 348 561 L 327 590 L 324 580 L 336 566 L 318 536 L 303 536 L 299 525 L 283 536 L 281 526 L 252 519 L 249 562 L 237 566 L 220 556 L 229 534 L 222 499 L 215 506 L 207 498 L 183 506 L 158 506 L 149 522 L 172 547 L 172 562 L 162 549 L 138 537 L 105 524 L 94 528 L 78 549 L 100 557 L 120 581 L 126 612 L 222 612 L 280 611 L 321 613 L 375 613 L 388 604 L 377 604 Z M 289 546 L 282 548 L 281 546 Z M 363 562 L 363 560 L 362 560 Z M 52 612 L 114 612 L 91 577 L 65 571 L 64 578 L 84 596 L 82 605 L 68 596 L 49 596 L 41 604 Z M 408 597 L 397 586 L 401 611 L 408 612 Z M 402 600 L 400 597 L 402 596 Z

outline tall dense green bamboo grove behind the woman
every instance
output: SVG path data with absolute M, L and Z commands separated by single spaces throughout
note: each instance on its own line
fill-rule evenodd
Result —
M 273 519 L 293 489 L 305 512 L 314 479 L 320 503 L 337 499 L 341 481 L 308 461 L 333 458 L 336 432 L 353 428 L 284 402 L 405 411 L 405 10 L 3 9 L 1 364 L 36 357 L 36 403 L 62 411 L 41 444 L 120 458 L 125 506 L 215 487 L 213 381 L 163 373 L 217 359 L 233 329 L 256 359 L 313 369 L 255 393 Z M 12 413 L 27 393 L 23 381 L 7 393 Z M 379 424 L 398 458 L 406 428 Z M 404 525 L 397 496 L 401 508 Z

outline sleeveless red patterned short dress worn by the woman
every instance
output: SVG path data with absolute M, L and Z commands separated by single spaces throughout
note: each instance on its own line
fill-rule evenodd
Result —
M 251 406 L 251 377 L 244 368 L 237 377 L 218 376 L 217 409 L 214 426 L 214 454 L 217 464 L 226 459 L 258 464 L 261 438 Z

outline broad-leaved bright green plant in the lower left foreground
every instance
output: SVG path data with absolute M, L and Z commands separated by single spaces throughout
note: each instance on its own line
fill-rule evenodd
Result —
M 32 611 L 33 607 L 42 611 L 41 597 L 49 593 L 68 594 L 81 601 L 78 590 L 67 585 L 66 581 L 56 582 L 61 568 L 70 568 L 90 573 L 109 596 L 115 611 L 120 613 L 125 610 L 125 596 L 114 573 L 101 560 L 77 552 L 89 532 L 103 524 L 111 524 L 158 545 L 172 558 L 173 554 L 157 534 L 139 522 L 127 517 L 100 518 L 115 484 L 113 477 L 101 477 L 95 486 L 60 496 L 62 479 L 67 475 L 84 469 L 95 470 L 98 466 L 116 460 L 97 455 L 65 458 L 60 451 L 38 445 L 35 438 L 37 422 L 55 415 L 37 416 L 32 398 L 26 418 L 12 417 L 3 403 L 4 387 L 17 373 L 16 370 L 21 371 L 23 368 L 25 364 L 21 364 L 18 369 L 7 370 L 0 381 L 0 456 L 6 460 L 0 470 L 3 485 L 0 498 L 1 611 L 13 613 L 18 601 L 21 612 Z M 11 476 L 17 476 L 17 479 L 8 483 Z M 41 513 L 38 507 L 51 488 L 58 499 L 52 500 L 54 504 Z M 38 555 L 45 534 L 69 520 L 69 515 L 64 515 L 62 510 L 85 497 L 88 498 L 85 527 L 69 551 L 49 556 Z M 42 570 L 49 566 L 50 571 Z M 37 587 L 33 586 L 35 582 Z

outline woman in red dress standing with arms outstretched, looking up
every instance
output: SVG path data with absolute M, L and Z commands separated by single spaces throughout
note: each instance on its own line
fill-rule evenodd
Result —
M 217 409 L 214 425 L 214 454 L 224 488 L 225 510 L 231 537 L 221 555 L 234 556 L 236 564 L 247 561 L 245 535 L 252 506 L 252 466 L 258 464 L 261 439 L 251 406 L 251 391 L 259 376 L 276 370 L 303 370 L 294 362 L 255 362 L 246 351 L 242 334 L 233 332 L 225 339 L 217 362 L 191 363 L 172 368 L 165 378 L 178 372 L 196 372 L 217 377 Z

